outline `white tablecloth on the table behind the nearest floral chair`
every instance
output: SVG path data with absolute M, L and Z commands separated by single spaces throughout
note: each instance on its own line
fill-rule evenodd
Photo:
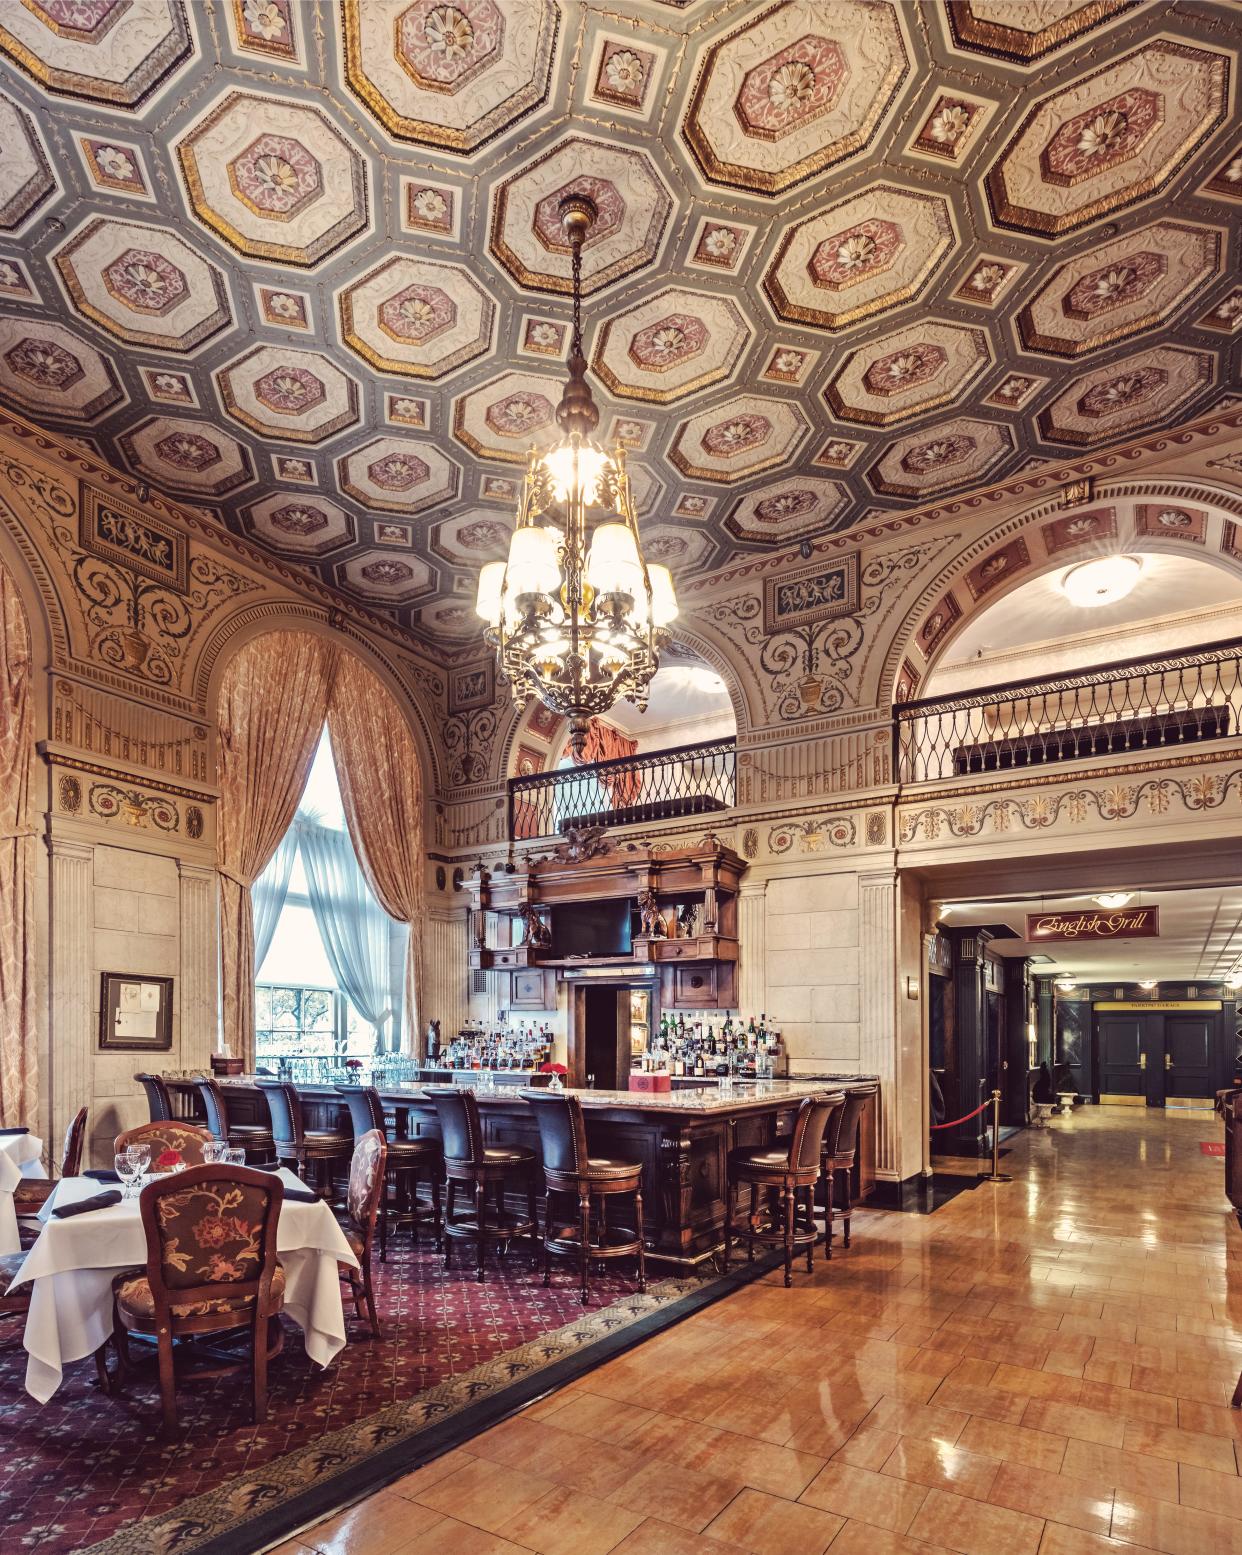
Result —
M 281 1169 L 286 1188 L 303 1188 Z M 90 1177 L 64 1177 L 54 1204 L 73 1204 L 106 1190 Z M 39 1241 L 26 1253 L 14 1284 L 33 1283 L 25 1347 L 26 1392 L 45 1404 L 61 1386 L 64 1367 L 95 1354 L 112 1333 L 112 1277 L 146 1266 L 138 1199 L 58 1221 L 47 1213 Z M 286 1199 L 277 1225 L 284 1264 L 284 1311 L 306 1336 L 306 1354 L 328 1365 L 345 1347 L 345 1309 L 337 1263 L 358 1260 L 326 1204 Z

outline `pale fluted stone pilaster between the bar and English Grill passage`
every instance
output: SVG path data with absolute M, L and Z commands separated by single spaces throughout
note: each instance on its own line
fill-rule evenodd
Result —
M 897 1121 L 902 1112 L 897 1033 L 897 875 L 858 875 L 858 1067 L 880 1076 L 875 1169 L 897 1177 Z

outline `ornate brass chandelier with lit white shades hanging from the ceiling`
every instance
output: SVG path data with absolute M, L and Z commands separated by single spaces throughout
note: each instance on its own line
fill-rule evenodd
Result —
M 535 695 L 566 715 L 581 757 L 592 717 L 622 698 L 647 706 L 678 605 L 668 568 L 644 560 L 625 449 L 591 439 L 600 412 L 583 356 L 581 253 L 597 210 L 566 194 L 560 215 L 574 264 L 563 435 L 530 453 L 508 560 L 483 566 L 476 611 L 518 708 Z

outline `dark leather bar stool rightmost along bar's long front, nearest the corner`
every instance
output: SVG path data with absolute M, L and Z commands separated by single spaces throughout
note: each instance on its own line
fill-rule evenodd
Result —
M 535 1109 L 539 1144 L 544 1155 L 544 1284 L 552 1283 L 552 1253 L 578 1260 L 581 1303 L 591 1294 L 589 1261 L 592 1258 L 628 1258 L 639 1263 L 639 1291 L 647 1289 L 647 1258 L 642 1241 L 642 1163 L 592 1155 L 586 1140 L 583 1104 L 577 1096 L 553 1090 L 524 1090 L 522 1096 Z M 634 1225 L 609 1225 L 608 1200 L 617 1194 L 634 1196 Z M 553 1224 L 556 1197 L 574 1197 L 577 1222 Z M 595 1238 L 591 1238 L 592 1210 Z

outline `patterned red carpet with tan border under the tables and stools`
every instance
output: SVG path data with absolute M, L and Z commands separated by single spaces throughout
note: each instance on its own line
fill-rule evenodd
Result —
M 157 1429 L 154 1375 L 143 1372 L 123 1396 L 107 1398 L 92 1362 L 79 1362 L 40 1407 L 23 1387 L 20 1326 L 0 1328 L 0 1549 L 208 1547 L 230 1516 L 270 1510 L 291 1488 L 348 1468 L 574 1347 L 581 1351 L 693 1284 L 658 1281 L 637 1297 L 628 1274 L 611 1269 L 594 1280 L 583 1312 L 569 1269 L 546 1291 L 525 1247 L 499 1269 L 490 1264 L 480 1286 L 455 1267 L 446 1274 L 426 1242 L 412 1250 L 404 1236 L 376 1270 L 382 1340 L 350 1319 L 350 1344 L 320 1372 L 289 1323 L 270 1372 L 267 1424 L 249 1421 L 244 1375 L 199 1381 L 179 1389 L 180 1434 L 171 1443 Z M 261 1473 L 281 1459 L 278 1473 Z M 190 1505 L 194 1497 L 211 1505 Z

